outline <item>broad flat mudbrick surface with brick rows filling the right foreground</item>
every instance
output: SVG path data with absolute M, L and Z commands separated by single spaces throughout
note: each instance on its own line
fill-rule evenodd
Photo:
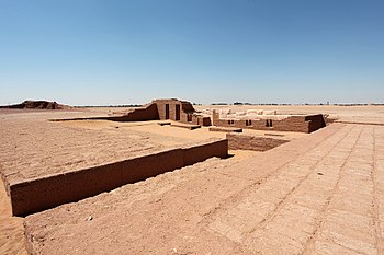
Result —
M 383 254 L 383 139 L 334 124 L 29 216 L 26 232 L 38 254 Z

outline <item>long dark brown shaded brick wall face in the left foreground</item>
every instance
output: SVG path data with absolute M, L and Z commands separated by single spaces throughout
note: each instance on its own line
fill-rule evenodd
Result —
M 13 215 L 25 216 L 109 192 L 212 157 L 227 155 L 227 140 L 215 139 L 76 172 L 10 184 L 7 188 Z

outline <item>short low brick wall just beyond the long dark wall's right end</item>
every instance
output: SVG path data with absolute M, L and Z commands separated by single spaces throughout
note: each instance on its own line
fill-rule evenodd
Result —
M 270 137 L 255 137 L 242 134 L 227 134 L 229 150 L 252 150 L 268 151 L 278 146 L 281 146 L 289 140 L 275 139 Z

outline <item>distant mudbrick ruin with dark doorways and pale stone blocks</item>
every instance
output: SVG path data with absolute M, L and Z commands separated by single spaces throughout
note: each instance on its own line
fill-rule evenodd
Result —
M 104 119 L 114 121 L 174 120 L 184 124 L 248 128 L 257 130 L 313 132 L 326 126 L 321 114 L 278 115 L 275 111 L 248 109 L 233 113 L 230 109 L 205 109 L 196 112 L 187 101 L 155 100 L 143 107 L 135 108 L 122 116 Z

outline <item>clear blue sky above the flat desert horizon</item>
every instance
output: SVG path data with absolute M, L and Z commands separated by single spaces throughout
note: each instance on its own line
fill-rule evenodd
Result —
M 384 103 L 384 1 L 0 0 L 0 104 Z

